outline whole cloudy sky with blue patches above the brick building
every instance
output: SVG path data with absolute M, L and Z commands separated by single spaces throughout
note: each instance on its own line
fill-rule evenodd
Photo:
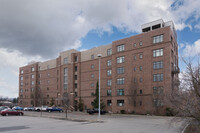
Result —
M 195 57 L 199 7 L 200 0 L 0 0 L 0 96 L 18 96 L 19 67 L 30 61 L 109 44 L 160 18 L 175 23 L 179 56 Z

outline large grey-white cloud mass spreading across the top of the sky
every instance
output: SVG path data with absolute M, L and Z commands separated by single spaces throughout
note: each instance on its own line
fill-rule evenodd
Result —
M 0 47 L 26 55 L 55 57 L 60 51 L 78 48 L 91 30 L 112 33 L 140 32 L 141 24 L 163 18 L 176 28 L 192 28 L 186 20 L 200 16 L 199 0 L 1 0 Z M 182 3 L 182 4 L 179 4 Z

